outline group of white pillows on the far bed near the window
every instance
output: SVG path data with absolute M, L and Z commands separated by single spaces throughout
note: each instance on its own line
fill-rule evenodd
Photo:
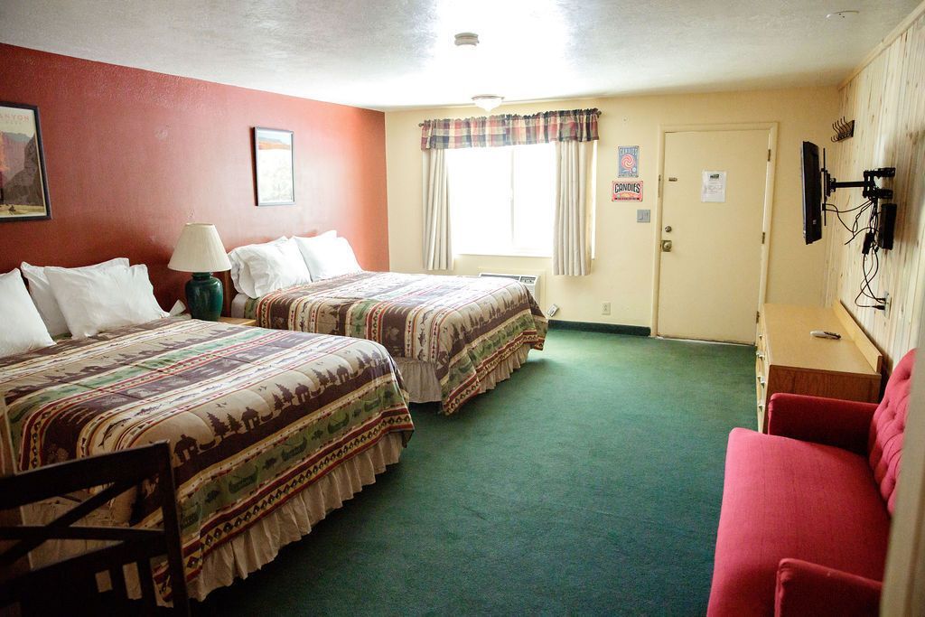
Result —
M 235 289 L 251 298 L 363 270 L 350 242 L 335 231 L 248 244 L 228 253 L 228 260 Z

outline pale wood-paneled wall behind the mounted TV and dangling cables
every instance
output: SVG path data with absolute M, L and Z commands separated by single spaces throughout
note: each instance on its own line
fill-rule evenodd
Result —
M 841 300 L 886 356 L 888 367 L 914 347 L 919 337 L 919 315 L 925 295 L 925 4 L 919 6 L 875 50 L 870 62 L 841 89 L 840 115 L 855 120 L 853 138 L 825 145 L 837 179 L 859 180 L 864 169 L 895 167 L 894 179 L 881 180 L 892 188 L 898 205 L 893 251 L 881 251 L 880 271 L 871 289 L 889 292 L 889 315 L 855 305 L 863 281 L 862 237 L 845 245 L 849 234 L 828 215 L 829 242 L 826 300 Z M 834 119 L 834 118 L 833 118 Z M 831 165 L 835 154 L 837 165 Z M 860 189 L 833 195 L 842 210 L 863 202 Z M 854 213 L 843 216 L 851 225 Z M 866 217 L 865 217 L 866 218 Z M 870 267 L 870 262 L 869 262 Z M 858 300 L 859 303 L 864 299 Z

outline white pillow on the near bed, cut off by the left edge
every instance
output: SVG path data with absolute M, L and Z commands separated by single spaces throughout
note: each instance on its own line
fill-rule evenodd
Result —
M 17 268 L 0 274 L 0 305 L 0 358 L 55 344 Z

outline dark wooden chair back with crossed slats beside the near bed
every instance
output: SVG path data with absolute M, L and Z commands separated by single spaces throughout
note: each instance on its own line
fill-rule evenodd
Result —
M 124 526 L 75 525 L 143 480 L 151 480 L 151 500 L 160 509 L 162 529 Z M 87 500 L 44 525 L 0 522 L 0 613 L 103 614 L 112 603 L 128 612 L 158 611 L 151 560 L 166 555 L 173 612 L 189 615 L 190 602 L 183 573 L 176 488 L 166 441 L 140 448 L 100 454 L 65 463 L 45 465 L 16 475 L 0 477 L 0 511 L 65 496 L 92 487 L 104 487 Z M 107 546 L 20 572 L 32 549 L 47 540 L 104 540 Z M 138 568 L 142 602 L 130 601 L 124 566 Z M 113 594 L 101 595 L 96 575 L 108 573 Z M 141 605 L 140 605 L 141 604 Z

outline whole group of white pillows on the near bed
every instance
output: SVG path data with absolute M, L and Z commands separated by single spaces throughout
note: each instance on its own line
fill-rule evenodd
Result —
M 0 274 L 6 309 L 0 357 L 47 347 L 52 337 L 86 339 L 167 315 L 154 299 L 148 268 L 125 258 L 78 268 L 19 267 L 21 276 L 19 269 Z

